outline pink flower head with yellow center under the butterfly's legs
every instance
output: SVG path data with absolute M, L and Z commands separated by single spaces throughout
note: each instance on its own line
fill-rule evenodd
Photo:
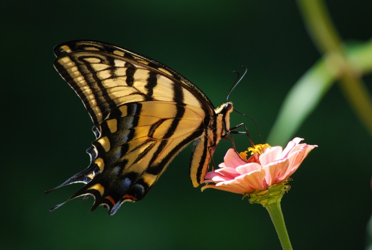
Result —
M 307 154 L 316 145 L 299 144 L 303 139 L 295 138 L 283 150 L 282 147 L 270 147 L 268 144 L 255 145 L 248 148 L 251 157 L 247 160 L 247 151 L 240 156 L 229 149 L 219 165 L 219 169 L 208 172 L 204 182 L 214 182 L 202 187 L 216 188 L 241 194 L 257 193 L 274 184 L 288 181 Z

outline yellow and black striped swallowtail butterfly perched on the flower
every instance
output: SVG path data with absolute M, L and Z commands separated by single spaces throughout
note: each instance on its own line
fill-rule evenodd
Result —
M 203 183 L 217 144 L 230 130 L 231 102 L 214 108 L 174 70 L 109 43 L 74 40 L 54 53 L 54 67 L 82 100 L 96 137 L 86 150 L 89 166 L 54 188 L 85 184 L 67 201 L 94 196 L 91 211 L 102 205 L 112 215 L 122 203 L 141 200 L 193 141 L 190 178 L 194 187 Z

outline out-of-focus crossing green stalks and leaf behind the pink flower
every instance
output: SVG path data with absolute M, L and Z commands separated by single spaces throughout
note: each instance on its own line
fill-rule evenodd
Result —
M 372 97 L 361 79 L 362 74 L 372 71 L 372 41 L 357 46 L 343 44 L 321 0 L 298 0 L 298 6 L 310 37 L 324 56 L 288 93 L 267 142 L 283 145 L 293 137 L 337 79 L 372 136 Z

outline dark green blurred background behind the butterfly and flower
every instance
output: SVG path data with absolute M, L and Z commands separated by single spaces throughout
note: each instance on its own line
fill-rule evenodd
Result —
M 345 40 L 372 34 L 370 1 L 329 0 Z M 67 40 L 107 41 L 154 58 L 219 105 L 241 65 L 235 108 L 254 117 L 265 139 L 286 93 L 320 57 L 293 1 L 2 1 L 1 249 L 280 249 L 268 213 L 241 195 L 193 188 L 190 147 L 147 197 L 109 216 L 88 213 L 92 198 L 65 201 L 79 184 L 43 195 L 88 166 L 92 123 L 53 68 Z M 371 90 L 371 78 L 366 80 Z M 259 143 L 253 123 L 244 122 Z M 290 121 L 289 121 L 290 122 Z M 282 209 L 294 249 L 363 249 L 371 215 L 371 149 L 337 85 L 296 136 L 315 149 L 293 175 Z M 243 151 L 249 146 L 237 139 Z M 231 147 L 222 141 L 215 162 Z

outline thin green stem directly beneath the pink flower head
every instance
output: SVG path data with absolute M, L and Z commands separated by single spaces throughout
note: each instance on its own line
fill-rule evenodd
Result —
M 284 223 L 282 208 L 280 207 L 280 202 L 274 202 L 264 207 L 270 214 L 271 220 L 273 221 L 283 250 L 292 250 L 292 245 L 287 233 L 286 224 Z

